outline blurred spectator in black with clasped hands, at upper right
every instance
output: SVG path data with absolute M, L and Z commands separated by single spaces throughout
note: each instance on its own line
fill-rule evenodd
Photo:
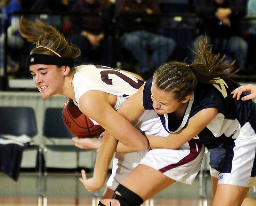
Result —
M 198 0 L 195 12 L 202 18 L 200 36 L 207 35 L 213 52 L 236 59 L 240 74 L 246 73 L 248 44 L 240 31 L 240 20 L 246 13 L 244 3 L 241 0 Z M 200 36 L 195 40 L 196 46 Z M 192 45 L 194 51 L 195 45 Z

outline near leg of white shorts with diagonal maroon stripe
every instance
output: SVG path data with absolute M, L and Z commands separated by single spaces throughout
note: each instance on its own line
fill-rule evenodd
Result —
M 204 146 L 187 142 L 179 149 L 153 149 L 140 164 L 148 165 L 178 182 L 191 185 L 199 172 L 204 157 Z

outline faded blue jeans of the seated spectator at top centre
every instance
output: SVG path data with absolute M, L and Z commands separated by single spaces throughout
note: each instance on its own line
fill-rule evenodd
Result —
M 124 33 L 121 43 L 132 52 L 140 64 L 142 73 L 167 61 L 176 46 L 172 38 L 144 30 Z M 148 51 L 152 54 L 149 55 Z

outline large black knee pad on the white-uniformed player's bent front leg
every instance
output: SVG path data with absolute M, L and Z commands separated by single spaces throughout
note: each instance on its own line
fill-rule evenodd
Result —
M 116 192 L 119 192 L 121 195 L 116 194 Z M 138 194 L 120 184 L 116 187 L 112 199 L 118 200 L 120 206 L 140 206 L 144 202 Z

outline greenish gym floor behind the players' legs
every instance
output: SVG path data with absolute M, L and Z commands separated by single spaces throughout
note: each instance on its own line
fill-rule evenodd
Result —
M 89 177 L 92 174 L 87 174 Z M 110 175 L 110 173 L 108 174 Z M 1 206 L 96 206 L 104 191 L 89 193 L 78 180 L 80 172 L 49 171 L 42 178 L 38 173 L 22 171 L 17 181 L 0 172 L 0 205 Z M 203 182 L 206 198 L 200 198 L 200 178 L 196 177 L 192 185 L 179 182 L 169 186 L 143 205 L 147 206 L 211 206 L 211 178 L 208 174 Z M 41 188 L 39 190 L 39 188 Z M 206 190 L 204 189 L 206 188 Z M 39 195 L 39 193 L 43 195 Z M 253 190 L 248 193 L 254 198 Z

